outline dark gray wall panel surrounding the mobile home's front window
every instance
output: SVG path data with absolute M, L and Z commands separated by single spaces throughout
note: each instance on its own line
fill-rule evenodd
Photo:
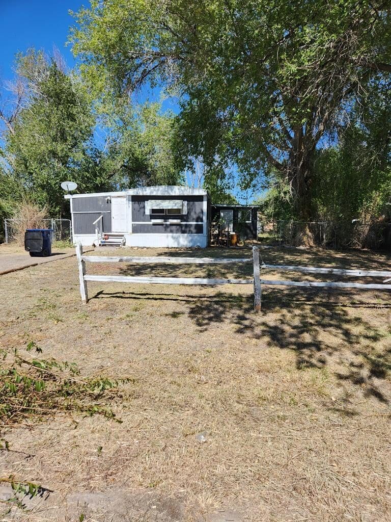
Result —
M 165 215 L 154 214 L 153 216 L 145 214 L 145 201 L 149 199 L 181 199 L 187 201 L 187 214 L 170 216 L 171 218 L 180 219 L 181 221 L 199 221 L 203 222 L 203 197 L 202 196 L 132 196 L 132 221 L 151 221 L 151 218 L 167 218 Z

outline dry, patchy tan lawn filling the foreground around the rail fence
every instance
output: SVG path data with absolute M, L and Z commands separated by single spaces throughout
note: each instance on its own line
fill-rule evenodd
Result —
M 389 256 L 366 251 L 260 253 L 269 264 L 391 270 Z M 252 265 L 91 263 L 87 272 L 251 278 Z M 0 289 L 4 367 L 17 349 L 28 361 L 75 362 L 89 382 L 125 379 L 96 398 L 115 419 L 60 402 L 53 416 L 40 405 L 4 420 L 0 477 L 53 493 L 2 519 L 390 520 L 389 292 L 265 287 L 254 314 L 251 284 L 89 282 L 83 305 L 75 257 L 0 276 Z

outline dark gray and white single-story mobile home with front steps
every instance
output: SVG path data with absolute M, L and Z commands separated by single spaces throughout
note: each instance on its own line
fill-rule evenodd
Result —
M 201 188 L 164 185 L 65 198 L 70 201 L 74 243 L 208 245 L 209 199 Z

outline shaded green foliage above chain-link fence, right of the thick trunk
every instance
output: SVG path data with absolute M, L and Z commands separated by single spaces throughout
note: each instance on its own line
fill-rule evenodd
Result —
M 314 164 L 313 212 L 320 219 L 391 219 L 391 82 L 373 83 L 337 129 L 338 145 Z

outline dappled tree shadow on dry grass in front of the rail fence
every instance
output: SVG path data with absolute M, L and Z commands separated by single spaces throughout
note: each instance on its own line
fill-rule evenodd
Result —
M 264 292 L 261 314 L 253 312 L 252 296 L 229 301 L 190 303 L 189 316 L 201 331 L 224 320 L 236 332 L 267 346 L 293 350 L 298 369 L 328 368 L 341 382 L 359 387 L 364 396 L 388 404 L 391 375 L 391 329 L 377 328 L 350 309 L 390 309 L 388 302 L 359 302 L 355 295 L 298 289 Z M 355 301 L 351 302 L 352 297 Z M 222 325 L 222 327 L 224 327 Z

